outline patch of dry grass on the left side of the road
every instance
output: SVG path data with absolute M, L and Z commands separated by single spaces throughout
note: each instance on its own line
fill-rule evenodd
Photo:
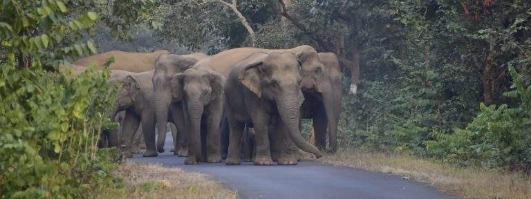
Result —
M 126 162 L 113 174 L 124 187 L 106 189 L 95 198 L 238 198 L 204 174 L 158 164 Z

